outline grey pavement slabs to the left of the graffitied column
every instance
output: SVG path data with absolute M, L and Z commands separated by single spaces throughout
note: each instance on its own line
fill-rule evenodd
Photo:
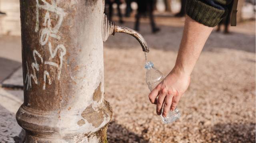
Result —
M 19 36 L 0 36 L 0 85 L 23 85 L 21 40 Z M 15 114 L 23 103 L 23 90 L 0 86 L 0 143 L 22 143 L 24 130 Z

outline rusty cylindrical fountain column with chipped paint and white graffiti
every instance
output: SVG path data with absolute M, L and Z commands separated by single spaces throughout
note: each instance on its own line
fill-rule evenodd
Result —
M 112 117 L 104 100 L 103 3 L 20 0 L 26 87 L 16 119 L 27 142 L 100 142 Z

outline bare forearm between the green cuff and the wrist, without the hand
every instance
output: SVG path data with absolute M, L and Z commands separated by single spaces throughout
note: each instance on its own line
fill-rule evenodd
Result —
M 181 71 L 186 75 L 191 74 L 212 29 L 212 27 L 204 26 L 186 16 L 174 70 Z

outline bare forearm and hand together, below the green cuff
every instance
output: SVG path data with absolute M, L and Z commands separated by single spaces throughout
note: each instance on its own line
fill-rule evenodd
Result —
M 190 74 L 212 29 L 186 16 L 176 64 L 165 79 L 148 95 L 151 103 L 156 104 L 158 115 L 161 114 L 162 107 L 164 107 L 164 117 L 170 109 L 176 108 L 180 97 L 188 88 Z

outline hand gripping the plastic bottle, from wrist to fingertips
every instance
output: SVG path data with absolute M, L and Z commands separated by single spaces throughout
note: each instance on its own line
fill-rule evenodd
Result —
M 174 68 L 148 95 L 150 102 L 156 104 L 157 115 L 161 115 L 162 107 L 163 117 L 166 117 L 170 110 L 173 111 L 180 97 L 188 89 L 189 83 L 190 74 Z

